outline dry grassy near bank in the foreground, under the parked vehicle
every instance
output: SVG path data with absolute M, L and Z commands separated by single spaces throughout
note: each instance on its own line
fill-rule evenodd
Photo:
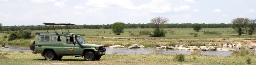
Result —
M 0 60 L 3 65 L 246 65 L 248 57 L 251 65 L 256 63 L 256 56 L 185 55 L 184 62 L 177 62 L 172 54 L 106 54 L 99 61 L 84 61 L 82 57 L 69 56 L 47 61 L 41 54 L 30 52 L 0 51 L 0 54 L 5 57 Z

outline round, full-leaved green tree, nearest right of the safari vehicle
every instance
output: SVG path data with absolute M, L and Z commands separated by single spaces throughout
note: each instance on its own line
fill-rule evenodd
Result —
M 112 24 L 111 28 L 116 35 L 120 35 L 121 33 L 124 33 L 124 28 L 126 28 L 126 25 L 125 23 L 116 22 Z

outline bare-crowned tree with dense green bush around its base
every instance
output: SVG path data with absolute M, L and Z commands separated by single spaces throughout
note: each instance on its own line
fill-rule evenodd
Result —
M 166 17 L 155 17 L 151 19 L 150 23 L 154 27 L 153 35 L 151 37 L 165 37 L 165 32 L 163 31 L 164 25 L 169 21 Z M 161 30 L 160 30 L 161 28 Z

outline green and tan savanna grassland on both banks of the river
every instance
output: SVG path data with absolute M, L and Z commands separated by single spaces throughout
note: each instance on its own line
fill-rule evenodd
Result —
M 232 41 L 233 44 L 253 46 L 256 44 L 256 35 L 243 34 L 238 36 L 233 28 L 202 28 L 199 32 L 193 31 L 193 28 L 164 28 L 166 37 L 149 37 L 148 35 L 138 35 L 140 31 L 153 31 L 153 28 L 125 28 L 124 33 L 115 35 L 111 29 L 71 29 L 70 33 L 85 34 L 83 36 L 87 43 L 99 44 L 105 46 L 124 45 L 128 47 L 132 44 L 144 45 L 145 47 L 155 48 L 158 45 L 170 44 L 193 44 L 200 43 L 205 45 L 221 46 Z M 61 33 L 61 30 L 56 30 Z M 67 32 L 67 30 L 63 30 Z M 219 34 L 204 34 L 207 31 L 215 31 Z M 32 31 L 42 32 L 40 31 Z M 46 32 L 45 30 L 43 32 Z M 49 30 L 54 32 L 54 30 Z M 197 35 L 196 35 L 197 34 Z M 17 39 L 8 41 L 3 38 L 6 33 L 0 33 L 0 45 L 26 45 L 29 46 L 32 39 Z M 196 36 L 195 36 L 196 35 Z M 32 54 L 31 52 L 0 51 L 0 64 L 2 65 L 246 65 L 250 59 L 250 65 L 256 64 L 255 55 L 244 56 L 207 56 L 201 54 L 185 55 L 184 61 L 179 62 L 175 58 L 178 55 L 172 54 L 106 54 L 99 61 L 84 61 L 82 57 L 67 57 L 62 60 L 47 61 L 41 54 Z

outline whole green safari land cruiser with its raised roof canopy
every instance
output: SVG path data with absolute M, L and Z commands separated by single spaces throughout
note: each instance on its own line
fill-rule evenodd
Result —
M 44 23 L 46 26 L 75 25 L 71 23 Z M 67 27 L 68 28 L 68 27 Z M 68 30 L 68 29 L 67 29 Z M 102 45 L 88 44 L 82 36 L 73 33 L 35 33 L 36 39 L 31 40 L 29 47 L 33 54 L 41 54 L 46 60 L 61 60 L 63 56 L 84 57 L 85 61 L 99 60 L 105 55 L 106 48 Z M 62 29 L 61 29 L 62 31 Z

